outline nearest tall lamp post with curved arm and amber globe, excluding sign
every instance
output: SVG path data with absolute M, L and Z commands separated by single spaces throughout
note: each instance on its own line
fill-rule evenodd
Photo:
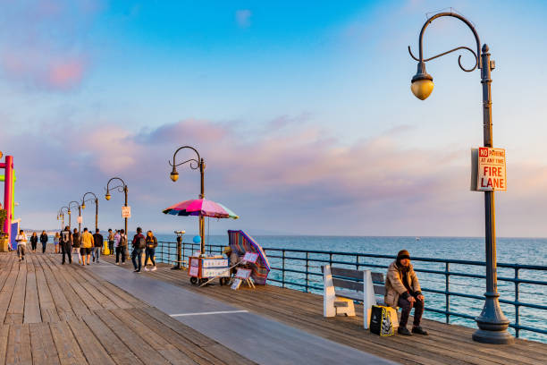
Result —
M 473 32 L 476 41 L 476 53 L 469 47 L 457 47 L 440 55 L 434 55 L 424 59 L 423 39 L 425 29 L 432 21 L 437 18 L 450 16 L 457 18 L 467 24 L 467 27 Z M 481 54 L 481 41 L 476 33 L 475 27 L 466 18 L 457 13 L 438 13 L 425 21 L 422 30 L 420 31 L 419 39 L 419 58 L 412 54 L 408 46 L 408 52 L 414 58 L 417 64 L 417 74 L 412 78 L 411 89 L 414 95 L 424 100 L 429 97 L 433 91 L 433 77 L 425 72 L 425 63 L 442 55 L 447 55 L 459 49 L 466 49 L 475 56 L 475 66 L 466 69 L 461 65 L 461 55 L 458 57 L 459 68 L 465 72 L 472 72 L 476 68 L 481 70 L 481 83 L 483 84 L 483 128 L 484 128 L 484 147 L 492 148 L 492 95 L 490 77 L 491 71 L 494 69 L 494 62 L 490 61 L 488 46 L 484 44 Z M 495 209 L 494 209 L 494 192 L 484 191 L 484 222 L 485 222 L 485 250 L 486 250 L 486 293 L 484 293 L 484 308 L 481 315 L 475 318 L 479 329 L 473 334 L 473 339 L 477 342 L 486 344 L 510 344 L 513 342 L 513 337 L 507 332 L 509 327 L 509 319 L 505 317 L 500 308 L 498 298 L 497 284 L 497 268 L 496 268 L 496 236 L 495 236 Z

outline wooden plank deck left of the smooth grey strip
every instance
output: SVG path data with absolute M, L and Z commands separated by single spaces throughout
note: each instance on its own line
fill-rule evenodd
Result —
M 0 364 L 254 363 L 50 250 L 0 253 Z

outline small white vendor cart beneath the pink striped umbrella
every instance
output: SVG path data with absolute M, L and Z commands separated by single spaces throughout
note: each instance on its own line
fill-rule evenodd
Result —
M 223 256 L 214 256 L 208 258 L 189 257 L 189 276 L 190 283 L 204 284 L 209 279 L 218 277 L 220 284 L 228 284 L 230 281 L 230 267 L 228 259 Z

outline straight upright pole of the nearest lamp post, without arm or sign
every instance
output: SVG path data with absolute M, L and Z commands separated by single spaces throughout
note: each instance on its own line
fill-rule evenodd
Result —
M 491 94 L 491 64 L 488 46 L 483 46 L 482 81 L 483 84 L 483 123 L 484 147 L 492 147 L 492 94 Z M 475 318 L 479 327 L 473 334 L 473 339 L 485 344 L 510 344 L 513 336 L 509 335 L 509 319 L 501 311 L 498 298 L 498 275 L 496 268 L 496 216 L 494 192 L 484 191 L 484 225 L 486 246 L 486 293 L 481 315 Z

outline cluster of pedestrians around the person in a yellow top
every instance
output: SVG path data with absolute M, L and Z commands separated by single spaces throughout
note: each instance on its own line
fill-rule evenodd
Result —
M 56 234 L 55 238 L 57 238 Z M 58 242 L 63 254 L 62 265 L 64 265 L 66 259 L 72 264 L 72 254 L 78 255 L 78 263 L 80 265 L 89 265 L 91 259 L 93 259 L 93 262 L 99 263 L 103 247 L 103 235 L 98 228 L 94 234 L 91 234 L 87 227 L 80 233 L 78 232 L 78 228 L 74 228 L 74 231 L 71 232 L 71 229 L 67 225 L 59 234 Z

